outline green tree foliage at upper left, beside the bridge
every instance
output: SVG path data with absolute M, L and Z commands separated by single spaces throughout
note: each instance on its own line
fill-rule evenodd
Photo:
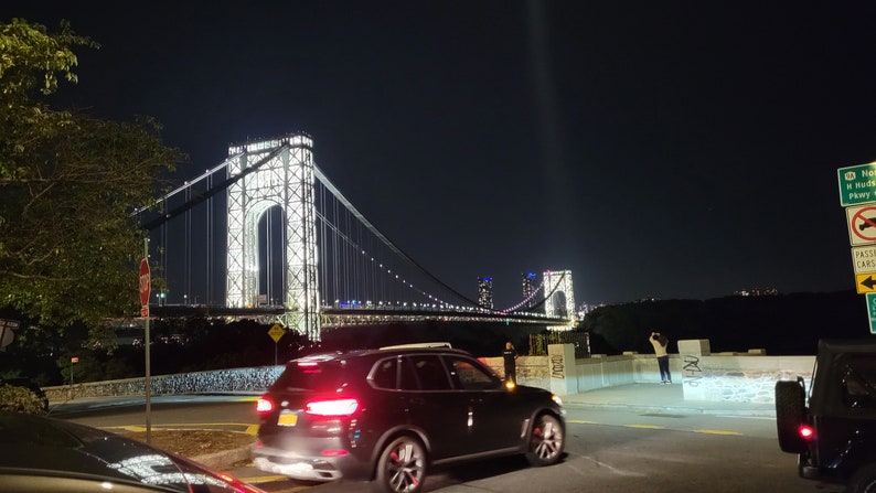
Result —
M 131 213 L 184 156 L 161 143 L 153 119 L 50 107 L 60 81 L 77 82 L 76 46 L 99 49 L 66 23 L 55 34 L 0 23 L 0 308 L 99 328 L 137 312 L 145 232 Z

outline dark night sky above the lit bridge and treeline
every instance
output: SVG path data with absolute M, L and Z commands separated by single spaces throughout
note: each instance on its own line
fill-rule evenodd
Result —
M 88 7 L 90 3 L 90 7 Z M 234 3 L 236 7 L 229 7 Z M 83 7 L 86 6 L 86 7 Z M 189 153 L 309 133 L 388 238 L 496 308 L 854 289 L 837 168 L 876 161 L 876 2 L 4 1 L 67 19 L 57 106 Z

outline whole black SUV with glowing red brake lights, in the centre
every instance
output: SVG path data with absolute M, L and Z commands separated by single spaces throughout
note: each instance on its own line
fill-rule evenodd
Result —
M 287 363 L 257 404 L 253 461 L 290 478 L 373 481 L 420 491 L 429 467 L 525 454 L 563 454 L 562 401 L 508 385 L 469 353 L 396 346 L 314 354 Z

